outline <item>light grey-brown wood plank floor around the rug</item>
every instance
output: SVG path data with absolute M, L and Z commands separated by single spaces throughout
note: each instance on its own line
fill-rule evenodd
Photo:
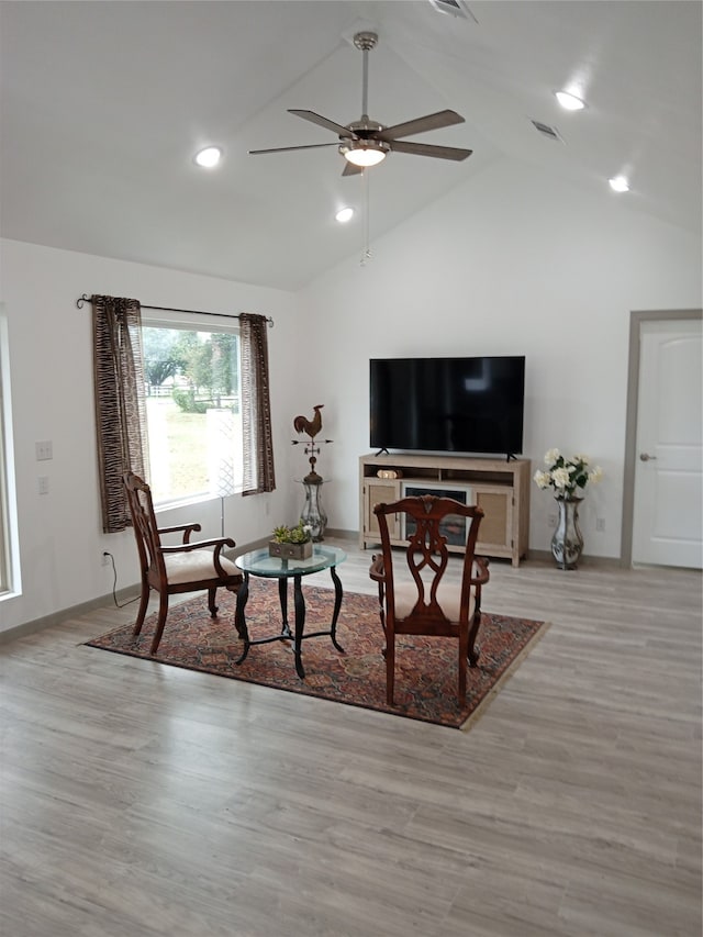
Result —
M 1 646 L 0 934 L 700 937 L 700 575 L 491 571 L 551 627 L 469 732 L 81 645 L 133 605 Z

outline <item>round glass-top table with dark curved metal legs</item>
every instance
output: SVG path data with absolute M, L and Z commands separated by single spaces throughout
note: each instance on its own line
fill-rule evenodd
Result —
M 313 554 L 308 559 L 282 559 L 281 557 L 269 556 L 268 548 L 252 550 L 243 554 L 235 559 L 236 565 L 244 572 L 244 580 L 237 592 L 237 604 L 235 612 L 235 627 L 239 638 L 244 642 L 244 650 L 237 663 L 242 663 L 249 648 L 255 644 L 269 644 L 275 640 L 292 640 L 295 658 L 295 672 L 301 680 L 305 679 L 305 671 L 302 663 L 302 642 L 306 638 L 321 637 L 328 635 L 332 638 L 332 644 L 335 648 L 344 654 L 344 648 L 337 643 L 337 618 L 339 617 L 339 609 L 342 607 L 342 582 L 337 576 L 336 567 L 344 562 L 347 555 L 338 547 L 321 546 L 314 544 Z M 310 576 L 313 572 L 321 572 L 324 569 L 330 570 L 332 581 L 334 583 L 334 611 L 332 614 L 332 623 L 328 631 L 312 632 L 304 634 L 305 628 L 305 599 L 302 590 L 302 578 Z M 249 598 L 249 576 L 257 576 L 263 579 L 278 580 L 278 595 L 281 605 L 281 631 L 276 635 L 268 637 L 249 638 L 249 632 L 246 626 L 245 609 Z M 288 580 L 293 580 L 293 605 L 295 610 L 294 628 L 291 633 L 288 624 Z

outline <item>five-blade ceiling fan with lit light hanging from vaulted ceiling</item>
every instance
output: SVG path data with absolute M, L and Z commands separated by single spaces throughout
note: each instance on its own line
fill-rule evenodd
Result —
M 350 124 L 338 124 L 327 118 L 316 114 L 314 111 L 290 110 L 289 114 L 295 114 L 313 124 L 331 130 L 338 136 L 337 143 L 312 143 L 303 146 L 278 146 L 270 149 L 249 149 L 249 155 L 258 156 L 264 153 L 286 153 L 292 149 L 319 149 L 322 146 L 336 146 L 344 156 L 346 163 L 343 176 L 354 176 L 362 172 L 368 166 L 376 166 L 386 158 L 388 153 L 410 153 L 414 156 L 432 156 L 437 159 L 454 159 L 460 161 L 470 156 L 471 149 L 461 149 L 456 146 L 432 146 L 426 143 L 409 143 L 399 137 L 413 136 L 431 130 L 451 126 L 451 124 L 464 123 L 464 118 L 456 111 L 437 111 L 436 114 L 426 114 L 423 118 L 406 121 L 393 126 L 383 126 L 369 119 L 368 109 L 368 54 L 376 48 L 378 35 L 371 32 L 357 33 L 354 36 L 354 45 L 364 55 L 362 71 L 362 97 L 361 119 Z

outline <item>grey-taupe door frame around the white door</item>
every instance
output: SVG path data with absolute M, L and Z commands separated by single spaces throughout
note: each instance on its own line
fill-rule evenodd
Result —
M 645 322 L 680 322 L 703 319 L 701 309 L 652 309 L 629 313 L 629 357 L 627 369 L 627 410 L 625 417 L 625 464 L 623 468 L 623 525 L 621 566 L 633 565 L 633 524 L 635 518 L 635 466 L 637 460 L 637 416 L 639 398 L 639 347 Z

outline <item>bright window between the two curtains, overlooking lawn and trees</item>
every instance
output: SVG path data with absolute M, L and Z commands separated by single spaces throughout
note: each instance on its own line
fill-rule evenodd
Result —
M 157 504 L 242 490 L 239 335 L 143 313 L 149 479 Z

